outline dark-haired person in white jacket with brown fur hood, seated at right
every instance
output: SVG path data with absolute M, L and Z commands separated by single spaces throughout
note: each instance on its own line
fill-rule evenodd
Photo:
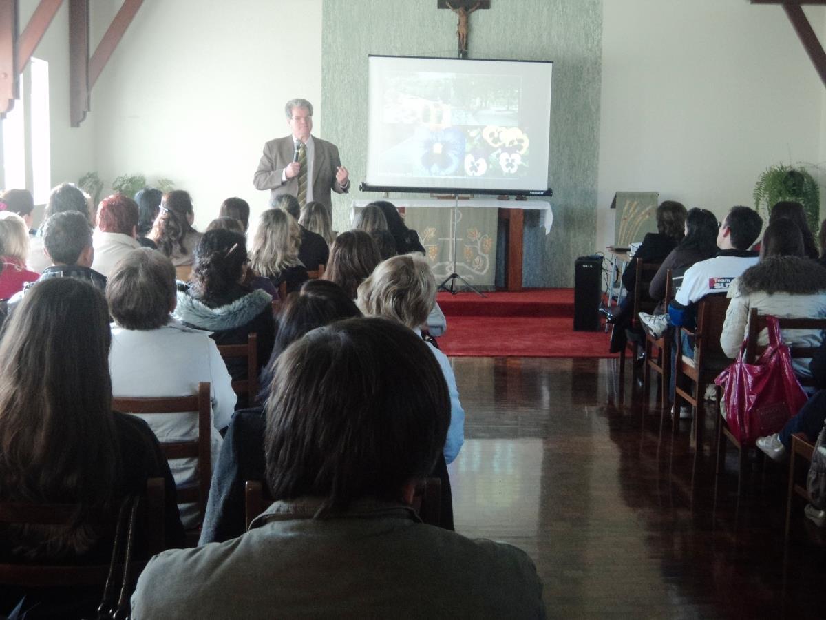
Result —
M 748 330 L 752 308 L 775 317 L 826 317 L 826 269 L 805 257 L 803 235 L 795 222 L 777 219 L 763 234 L 760 262 L 752 265 L 729 286 L 731 299 L 726 311 L 720 346 L 729 357 L 737 357 Z M 819 330 L 784 330 L 788 345 L 819 346 Z M 767 332 L 757 338 L 767 345 Z M 809 377 L 809 360 L 792 360 L 795 373 Z

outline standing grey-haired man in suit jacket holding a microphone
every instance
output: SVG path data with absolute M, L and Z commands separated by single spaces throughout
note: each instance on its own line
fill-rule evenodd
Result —
M 312 103 L 306 99 L 291 99 L 284 107 L 290 136 L 268 141 L 255 171 L 256 189 L 270 190 L 270 199 L 282 193 L 299 197 L 301 164 L 306 153 L 306 196 L 303 204 L 316 200 L 332 213 L 330 190 L 346 193 L 350 186 L 349 172 L 339 159 L 339 150 L 328 141 L 310 135 L 312 130 Z

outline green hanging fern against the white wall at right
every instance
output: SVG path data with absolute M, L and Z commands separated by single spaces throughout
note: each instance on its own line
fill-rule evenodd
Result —
M 802 165 L 776 164 L 766 169 L 754 185 L 754 207 L 768 221 L 769 209 L 781 200 L 803 205 L 806 222 L 815 234 L 820 227 L 820 188 Z

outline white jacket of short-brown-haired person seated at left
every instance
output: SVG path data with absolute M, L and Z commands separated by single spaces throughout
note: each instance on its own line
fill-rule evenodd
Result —
M 232 379 L 208 331 L 184 327 L 174 319 L 164 327 L 148 331 L 128 330 L 112 323 L 109 351 L 112 395 L 132 398 L 189 396 L 198 384 L 209 381 L 212 401 L 212 463 L 221 449 L 218 432 L 230 423 L 235 411 Z M 129 413 L 129 412 L 124 412 Z M 197 414 L 155 413 L 140 416 L 155 436 L 164 441 L 187 441 L 197 437 Z M 174 460 L 170 465 L 175 484 L 196 479 L 195 459 Z M 196 524 L 194 504 L 181 507 L 184 527 Z

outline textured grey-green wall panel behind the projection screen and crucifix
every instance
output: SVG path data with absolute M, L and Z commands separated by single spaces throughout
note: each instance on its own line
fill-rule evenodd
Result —
M 435 0 L 325 0 L 321 109 L 354 186 L 367 149 L 367 56 L 456 55 L 456 16 Z M 470 18 L 469 58 L 553 60 L 549 235 L 526 213 L 525 286 L 571 286 L 573 261 L 596 240 L 602 0 L 492 0 Z M 349 227 L 354 187 L 334 195 L 334 224 Z M 391 200 L 393 195 L 391 195 Z

